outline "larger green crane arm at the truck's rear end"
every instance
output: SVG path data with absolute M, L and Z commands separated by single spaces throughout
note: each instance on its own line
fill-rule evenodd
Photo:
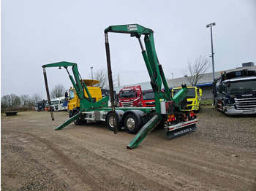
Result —
M 160 114 L 161 112 L 161 109 L 160 109 L 161 99 L 164 99 L 165 101 L 172 100 L 175 102 L 176 106 L 180 105 L 179 104 L 180 99 L 177 97 L 178 95 L 176 96 L 177 97 L 176 99 L 171 98 L 170 89 L 167 85 L 164 71 L 162 69 L 162 66 L 159 64 L 159 60 L 157 58 L 157 52 L 155 50 L 155 44 L 154 44 L 154 31 L 149 28 L 140 26 L 138 24 L 109 26 L 108 28 L 105 28 L 106 47 L 109 46 L 107 45 L 108 32 L 130 34 L 132 37 L 135 36 L 138 38 L 140 47 L 142 50 L 143 59 L 144 59 L 144 62 L 146 63 L 148 74 L 151 79 L 151 86 L 152 86 L 152 89 L 154 90 L 156 112 L 158 114 Z M 146 50 L 144 50 L 143 44 L 140 41 L 141 35 L 144 35 L 144 43 L 146 46 Z M 108 47 L 108 51 L 109 51 L 109 47 Z M 108 51 L 107 51 L 107 58 L 108 60 L 110 60 L 110 55 L 108 55 Z M 108 62 L 110 63 L 110 61 Z M 165 92 L 162 92 L 161 90 L 162 84 L 165 87 Z M 186 92 L 187 91 L 186 88 L 187 87 L 184 87 L 183 89 L 181 89 L 181 91 Z M 179 93 L 179 94 L 184 94 L 184 93 Z

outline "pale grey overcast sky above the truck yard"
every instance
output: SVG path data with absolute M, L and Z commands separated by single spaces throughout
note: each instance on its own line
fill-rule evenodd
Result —
M 154 31 L 167 79 L 183 77 L 181 69 L 200 55 L 211 62 L 209 23 L 216 23 L 215 71 L 256 64 L 255 0 L 1 0 L 1 97 L 38 93 L 46 98 L 42 65 L 47 63 L 78 63 L 83 79 L 91 67 L 106 69 L 105 28 L 133 23 Z M 110 33 L 109 42 L 120 85 L 148 82 L 138 39 Z M 46 71 L 50 90 L 72 86 L 64 69 Z

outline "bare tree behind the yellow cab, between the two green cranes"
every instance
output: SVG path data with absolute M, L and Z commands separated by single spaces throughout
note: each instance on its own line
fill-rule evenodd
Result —
M 101 89 L 108 89 L 108 71 L 105 68 L 98 69 L 94 72 L 94 79 L 99 81 L 99 84 L 94 86 L 100 87 Z M 92 79 L 91 74 L 89 75 L 89 79 Z

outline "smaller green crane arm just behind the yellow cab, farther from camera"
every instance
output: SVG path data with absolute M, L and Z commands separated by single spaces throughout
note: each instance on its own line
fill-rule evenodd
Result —
M 69 66 L 72 66 L 72 71 L 75 77 L 72 77 L 72 75 L 69 74 L 69 71 L 67 70 L 67 68 Z M 58 63 L 49 63 L 49 64 L 45 64 L 42 66 L 42 68 L 49 68 L 49 67 L 59 67 L 59 69 L 61 69 L 61 67 L 64 67 L 67 70 L 67 73 L 69 74 L 69 79 L 72 82 L 72 85 L 75 88 L 75 91 L 78 94 L 78 98 L 83 99 L 84 98 L 84 92 L 83 92 L 83 87 L 86 90 L 87 95 L 89 96 L 89 101 L 92 102 L 92 98 L 91 98 L 91 94 L 89 93 L 88 88 L 86 87 L 86 85 L 83 83 L 83 80 L 80 80 L 80 74 L 78 72 L 78 65 L 77 63 L 69 63 L 69 62 L 58 62 Z

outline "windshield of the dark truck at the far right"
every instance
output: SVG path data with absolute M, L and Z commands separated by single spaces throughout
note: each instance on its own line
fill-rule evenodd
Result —
M 256 79 L 227 82 L 227 93 L 256 93 Z

